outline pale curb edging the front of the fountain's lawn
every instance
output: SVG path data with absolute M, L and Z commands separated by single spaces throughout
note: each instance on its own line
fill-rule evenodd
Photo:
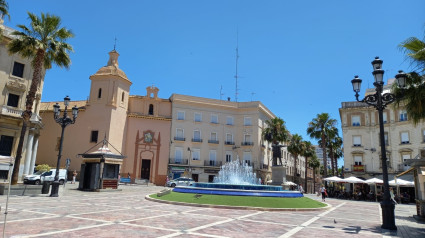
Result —
M 181 206 L 191 206 L 191 207 L 224 208 L 224 209 L 254 210 L 254 211 L 288 211 L 288 212 L 321 211 L 321 210 L 328 210 L 332 207 L 332 205 L 330 205 L 329 203 L 325 203 L 327 205 L 326 207 L 319 207 L 319 208 L 267 208 L 267 207 L 242 207 L 242 206 L 227 206 L 227 205 L 197 204 L 197 203 L 166 201 L 166 200 L 151 198 L 150 196 L 153 194 L 156 194 L 156 193 L 146 195 L 145 199 L 152 202 L 181 205 Z

